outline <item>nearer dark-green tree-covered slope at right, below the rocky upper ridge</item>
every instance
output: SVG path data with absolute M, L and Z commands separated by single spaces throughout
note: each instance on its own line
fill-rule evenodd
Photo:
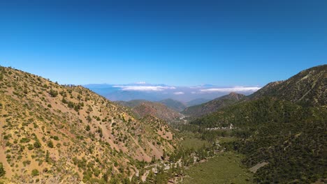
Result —
M 326 178 L 326 122 L 326 107 L 261 98 L 192 123 L 217 130 L 228 130 L 232 124 L 240 141 L 231 147 L 246 155 L 243 163 L 247 167 L 268 163 L 254 174 L 256 183 L 313 183 Z

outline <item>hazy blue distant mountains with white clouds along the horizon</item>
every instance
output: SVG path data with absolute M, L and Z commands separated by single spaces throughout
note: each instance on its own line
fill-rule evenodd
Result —
M 129 101 L 129 100 L 148 100 L 148 101 L 161 101 L 166 99 L 177 100 L 183 102 L 186 107 L 191 105 L 199 105 L 203 102 L 218 98 L 221 95 L 227 95 L 228 93 L 242 93 L 249 95 L 259 90 L 259 86 L 168 86 L 165 84 L 88 84 L 86 88 L 102 95 L 109 100 L 117 101 Z M 163 102 L 166 104 L 166 102 Z M 168 102 L 169 104 L 170 102 Z M 167 105 L 167 104 L 166 104 Z M 182 109 L 182 107 L 174 107 L 176 110 Z M 173 109 L 174 109 L 173 108 Z

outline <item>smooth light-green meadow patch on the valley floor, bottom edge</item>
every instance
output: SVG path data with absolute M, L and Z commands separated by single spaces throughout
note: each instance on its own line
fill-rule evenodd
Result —
M 242 158 L 242 155 L 232 152 L 219 153 L 207 162 L 186 169 L 182 183 L 252 183 L 253 174 L 242 167 Z

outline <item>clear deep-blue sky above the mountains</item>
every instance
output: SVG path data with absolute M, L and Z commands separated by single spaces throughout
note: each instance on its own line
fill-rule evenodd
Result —
M 60 84 L 262 86 L 326 63 L 326 0 L 0 0 L 0 65 Z

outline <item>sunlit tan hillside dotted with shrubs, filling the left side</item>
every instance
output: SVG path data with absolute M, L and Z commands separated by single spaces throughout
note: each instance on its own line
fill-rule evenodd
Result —
M 61 86 L 0 67 L 0 162 L 8 181 L 124 181 L 138 160 L 173 153 L 166 123 L 134 118 L 129 109 L 82 86 Z

